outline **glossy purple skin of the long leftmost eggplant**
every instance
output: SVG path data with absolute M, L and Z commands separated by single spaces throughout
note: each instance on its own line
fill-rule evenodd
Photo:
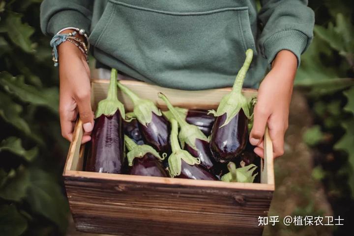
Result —
M 119 110 L 110 117 L 99 116 L 91 134 L 86 171 L 121 173 L 124 161 L 123 121 Z

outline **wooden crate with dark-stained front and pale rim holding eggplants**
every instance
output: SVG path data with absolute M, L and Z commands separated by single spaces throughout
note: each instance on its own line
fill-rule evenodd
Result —
M 92 80 L 92 105 L 107 95 L 109 80 Z M 141 97 L 163 107 L 157 92 L 173 105 L 216 108 L 229 88 L 181 91 L 122 81 Z M 247 98 L 257 91 L 244 89 Z M 119 94 L 126 110 L 129 99 Z M 258 217 L 268 214 L 274 191 L 272 143 L 265 136 L 261 184 L 142 177 L 83 171 L 82 123 L 78 121 L 64 169 L 64 181 L 77 230 L 119 236 L 256 236 Z

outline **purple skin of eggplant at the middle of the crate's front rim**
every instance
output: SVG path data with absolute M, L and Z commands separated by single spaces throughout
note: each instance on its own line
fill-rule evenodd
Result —
M 218 180 L 213 174 L 204 169 L 201 165 L 189 165 L 181 160 L 181 173 L 176 178 L 193 180 Z

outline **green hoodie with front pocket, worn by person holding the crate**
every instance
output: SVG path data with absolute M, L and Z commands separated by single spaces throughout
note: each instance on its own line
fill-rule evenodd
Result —
M 256 87 L 277 52 L 300 54 L 313 37 L 307 0 L 44 0 L 41 28 L 89 33 L 101 63 L 148 83 L 199 90 L 231 86 L 247 49 Z

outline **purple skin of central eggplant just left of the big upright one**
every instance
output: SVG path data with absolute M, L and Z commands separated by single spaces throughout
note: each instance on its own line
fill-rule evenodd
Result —
M 215 160 L 210 152 L 209 143 L 196 138 L 195 145 L 197 150 L 191 148 L 188 144 L 185 144 L 184 150 L 188 151 L 193 157 L 199 157 L 200 165 L 210 170 L 214 166 Z

